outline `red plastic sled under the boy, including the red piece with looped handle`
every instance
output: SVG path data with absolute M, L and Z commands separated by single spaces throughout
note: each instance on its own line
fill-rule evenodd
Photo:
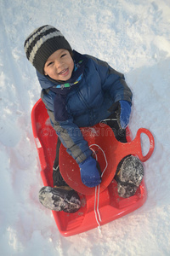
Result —
M 47 110 L 41 99 L 32 108 L 31 123 L 42 168 L 42 181 L 44 186 L 53 186 L 52 172 L 57 135 L 50 124 Z M 82 207 L 75 213 L 53 211 L 55 222 L 62 236 L 73 236 L 120 218 L 141 207 L 147 197 L 144 180 L 135 195 L 127 199 L 119 197 L 113 177 L 116 166 L 127 154 L 138 155 L 141 161 L 150 158 L 154 150 L 154 138 L 150 131 L 140 128 L 132 141 L 130 131 L 127 129 L 127 143 L 120 143 L 117 142 L 111 128 L 105 124 L 81 130 L 103 171 L 102 183 L 96 188 L 83 185 L 76 161 L 61 145 L 60 172 L 66 183 L 77 190 L 82 201 Z M 145 156 L 142 154 L 141 133 L 146 134 L 150 139 L 150 149 Z

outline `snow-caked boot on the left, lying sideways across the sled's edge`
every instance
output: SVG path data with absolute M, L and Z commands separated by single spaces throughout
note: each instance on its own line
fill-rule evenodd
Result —
M 73 189 L 42 187 L 39 191 L 39 201 L 42 206 L 53 211 L 77 212 L 81 201 Z

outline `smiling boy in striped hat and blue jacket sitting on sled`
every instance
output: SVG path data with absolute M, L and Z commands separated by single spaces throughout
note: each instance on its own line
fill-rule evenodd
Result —
M 132 92 L 122 73 L 93 56 L 81 55 L 54 26 L 41 26 L 25 42 L 26 56 L 37 69 L 44 102 L 51 123 L 58 135 L 54 160 L 54 188 L 40 189 L 39 199 L 44 207 L 55 211 L 77 212 L 80 198 L 59 172 L 59 146 L 80 167 L 82 183 L 89 188 L 101 183 L 99 164 L 83 139 L 79 127 L 105 121 L 115 132 L 116 139 L 126 143 L 127 127 L 132 105 Z M 121 132 L 120 132 L 121 131 Z M 139 159 L 128 155 L 116 170 L 118 194 L 134 195 L 144 176 Z

